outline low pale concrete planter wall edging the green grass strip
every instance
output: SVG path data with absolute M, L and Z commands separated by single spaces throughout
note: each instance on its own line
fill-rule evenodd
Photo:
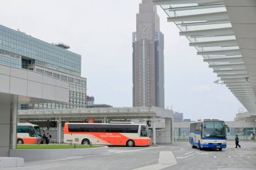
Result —
M 36 161 L 57 157 L 73 157 L 107 153 L 108 146 L 100 148 L 69 148 L 69 149 L 11 149 L 9 157 L 24 158 L 25 161 Z

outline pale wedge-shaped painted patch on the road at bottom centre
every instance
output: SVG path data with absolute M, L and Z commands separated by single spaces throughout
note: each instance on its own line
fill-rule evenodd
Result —
M 171 151 L 160 151 L 158 163 L 153 165 L 148 165 L 146 167 L 140 167 L 133 170 L 158 170 L 158 169 L 163 169 L 176 164 L 177 164 L 177 161 Z

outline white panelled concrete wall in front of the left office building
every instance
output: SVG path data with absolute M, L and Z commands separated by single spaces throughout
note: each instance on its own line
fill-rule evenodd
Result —
M 34 71 L 0 65 L 0 93 L 69 102 L 69 83 Z

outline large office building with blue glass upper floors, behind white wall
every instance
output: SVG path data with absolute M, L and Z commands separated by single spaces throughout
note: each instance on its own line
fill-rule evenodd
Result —
M 0 65 L 36 71 L 69 83 L 69 103 L 22 103 L 20 109 L 86 108 L 86 78 L 81 77 L 81 55 L 67 44 L 49 44 L 0 25 Z

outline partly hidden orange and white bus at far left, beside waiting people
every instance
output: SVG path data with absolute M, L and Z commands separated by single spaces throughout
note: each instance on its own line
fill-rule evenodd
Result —
M 17 144 L 37 144 L 37 134 L 42 136 L 42 132 L 38 125 L 30 123 L 18 123 Z

